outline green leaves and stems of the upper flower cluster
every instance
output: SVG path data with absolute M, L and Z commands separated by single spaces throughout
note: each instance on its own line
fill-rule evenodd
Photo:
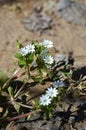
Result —
M 26 69 L 26 73 L 28 74 L 28 78 L 32 78 L 34 81 L 37 81 L 37 82 L 42 82 L 42 80 L 44 78 L 46 78 L 46 76 L 50 76 L 49 75 L 49 67 L 43 60 L 43 56 L 46 57 L 45 49 L 48 52 L 47 55 L 50 55 L 50 53 L 49 53 L 48 48 L 41 46 L 39 43 L 35 43 L 34 41 L 32 41 L 30 43 L 30 45 L 34 46 L 34 49 L 35 49 L 34 52 L 30 53 L 29 50 L 26 50 L 26 52 L 25 52 L 26 54 L 23 55 L 21 52 L 21 48 L 26 49 L 27 46 L 23 47 L 23 45 L 19 44 L 19 42 L 18 42 L 17 46 L 18 46 L 20 52 L 18 51 L 15 54 L 15 57 L 18 60 L 19 67 Z M 37 75 L 35 75 L 35 76 L 31 75 L 31 71 L 35 70 L 34 63 L 37 66 L 36 67 Z M 45 71 L 47 73 L 46 75 L 44 75 Z

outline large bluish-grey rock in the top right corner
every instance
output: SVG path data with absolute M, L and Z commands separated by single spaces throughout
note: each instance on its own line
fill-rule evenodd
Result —
M 60 0 L 57 7 L 58 15 L 64 20 L 86 25 L 86 5 L 71 0 Z

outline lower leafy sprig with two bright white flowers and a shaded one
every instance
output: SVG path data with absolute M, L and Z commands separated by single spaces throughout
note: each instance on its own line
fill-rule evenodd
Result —
M 61 89 L 64 86 L 65 84 L 63 81 L 54 81 L 52 86 L 49 87 L 45 94 L 40 97 L 39 106 L 43 111 L 44 118 L 49 119 L 52 117 L 56 104 L 63 93 Z

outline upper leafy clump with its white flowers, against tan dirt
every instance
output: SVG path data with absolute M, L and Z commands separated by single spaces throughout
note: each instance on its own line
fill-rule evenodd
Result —
M 23 46 L 18 43 L 18 52 L 15 57 L 18 65 L 26 70 L 28 79 L 41 82 L 46 76 L 50 77 L 50 67 L 54 63 L 53 57 L 49 53 L 49 48 L 53 47 L 53 42 L 44 40 L 42 43 L 32 41 Z M 36 70 L 36 75 L 31 72 Z

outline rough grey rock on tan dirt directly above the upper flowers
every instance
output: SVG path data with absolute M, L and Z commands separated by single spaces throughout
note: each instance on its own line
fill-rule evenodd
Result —
M 25 28 L 29 31 L 39 31 L 51 28 L 52 19 L 50 16 L 45 13 L 41 14 L 37 11 L 33 12 L 33 14 L 29 18 L 23 19 L 23 24 Z

